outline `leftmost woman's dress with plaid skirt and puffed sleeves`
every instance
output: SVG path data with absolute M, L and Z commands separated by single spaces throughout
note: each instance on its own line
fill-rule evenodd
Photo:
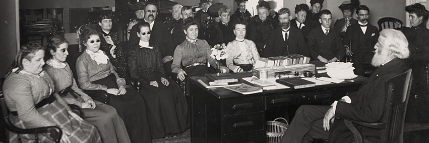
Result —
M 54 84 L 44 71 L 39 75 L 33 75 L 24 71 L 11 73 L 3 86 L 6 104 L 10 111 L 17 111 L 18 116 L 10 116 L 11 122 L 20 128 L 35 128 L 43 126 L 58 126 L 69 132 L 71 142 L 101 142 L 97 128 L 86 121 L 79 121 L 69 117 L 70 107 L 54 91 Z M 49 96 L 55 96 L 50 104 L 36 108 L 39 103 Z M 18 136 L 22 142 L 35 142 L 34 134 L 17 134 L 10 132 L 10 142 L 18 142 Z M 40 142 L 54 142 L 45 134 L 38 134 Z

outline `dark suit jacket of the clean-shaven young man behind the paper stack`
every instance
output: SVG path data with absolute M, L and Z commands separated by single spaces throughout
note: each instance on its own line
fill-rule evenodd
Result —
M 339 57 L 342 60 L 346 53 L 343 42 L 341 41 L 340 34 L 334 29 L 330 29 L 328 35 L 322 31 L 322 27 L 314 28 L 307 37 L 307 44 L 309 46 L 312 59 L 316 60 L 320 55 L 327 60 Z

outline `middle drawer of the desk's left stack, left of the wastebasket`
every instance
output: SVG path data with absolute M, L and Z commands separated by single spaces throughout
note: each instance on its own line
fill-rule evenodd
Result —
M 264 129 L 264 122 L 262 112 L 226 116 L 222 119 L 222 133 L 229 134 Z

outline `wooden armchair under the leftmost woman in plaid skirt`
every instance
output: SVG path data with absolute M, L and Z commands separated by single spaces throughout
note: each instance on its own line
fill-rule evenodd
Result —
M 9 120 L 9 116 L 10 116 L 10 112 L 8 110 L 8 107 L 6 106 L 6 101 L 5 101 L 5 96 L 3 94 L 3 81 L 5 80 L 5 78 L 1 79 L 1 83 L 0 83 L 0 102 L 1 102 L 1 107 L 2 107 L 2 114 L 3 114 L 3 119 L 2 122 L 4 122 L 6 124 L 6 142 L 9 142 L 9 131 L 15 132 L 15 133 L 19 133 L 19 134 L 36 134 L 35 135 L 35 140 L 36 142 L 38 142 L 38 136 L 37 134 L 39 133 L 49 133 L 49 137 L 51 137 L 52 140 L 54 140 L 55 142 L 59 142 L 61 139 L 61 136 L 63 135 L 63 131 L 57 127 L 57 126 L 45 126 L 45 127 L 37 127 L 37 128 L 28 128 L 28 129 L 23 129 L 23 128 L 18 128 L 16 127 L 10 120 Z M 79 108 L 79 107 L 78 107 Z M 2 123 L 3 124 L 3 123 Z M 18 140 L 20 140 L 20 137 L 18 137 Z

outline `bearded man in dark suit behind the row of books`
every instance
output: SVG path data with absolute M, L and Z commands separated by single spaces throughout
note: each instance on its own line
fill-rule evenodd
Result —
M 287 8 L 279 10 L 280 26 L 269 36 L 265 47 L 266 57 L 301 54 L 310 57 L 310 51 L 299 29 L 290 26 L 290 11 Z

